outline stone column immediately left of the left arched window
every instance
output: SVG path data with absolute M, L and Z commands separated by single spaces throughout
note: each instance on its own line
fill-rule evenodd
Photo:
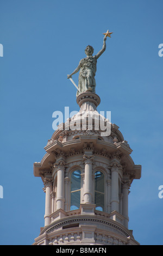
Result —
M 55 167 L 57 167 L 57 210 L 64 210 L 65 203 L 65 190 L 64 190 L 64 182 L 65 182 L 65 167 L 66 163 L 63 160 L 60 160 L 58 163 L 55 163 Z

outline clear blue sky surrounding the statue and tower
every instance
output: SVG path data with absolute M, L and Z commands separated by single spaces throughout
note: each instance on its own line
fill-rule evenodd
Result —
M 96 54 L 99 111 L 111 111 L 142 165 L 129 194 L 129 229 L 141 245 L 163 245 L 162 0 L 1 0 L 0 244 L 31 245 L 44 225 L 45 193 L 33 175 L 53 134 L 52 113 L 79 110 L 67 74 Z M 74 75 L 78 82 L 78 75 Z

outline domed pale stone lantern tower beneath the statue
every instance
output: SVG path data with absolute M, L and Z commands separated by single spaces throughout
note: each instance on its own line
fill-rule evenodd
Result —
M 46 195 L 45 227 L 34 245 L 139 245 L 128 229 L 128 194 L 141 166 L 119 127 L 97 112 L 97 94 L 81 93 L 77 103 L 78 114 L 58 126 L 34 163 Z M 110 124 L 108 135 L 97 129 L 99 119 Z

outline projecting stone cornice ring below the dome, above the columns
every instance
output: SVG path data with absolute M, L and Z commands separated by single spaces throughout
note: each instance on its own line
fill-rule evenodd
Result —
M 130 157 L 132 150 L 128 147 L 126 142 L 113 144 L 111 142 L 98 140 L 98 136 L 81 135 L 79 139 L 74 139 L 64 143 L 55 142 L 49 147 L 48 152 L 43 156 L 41 163 L 34 163 L 35 176 L 40 176 L 40 170 L 52 170 L 53 164 L 62 157 L 64 157 L 66 161 L 67 157 L 70 158 L 71 156 L 79 155 L 83 157 L 83 154 L 90 152 L 90 154 L 93 154 L 95 157 L 105 157 L 105 159 L 108 159 L 109 161 L 117 160 L 122 165 L 125 163 L 126 170 L 130 175 L 132 175 L 132 179 L 140 179 L 141 177 L 141 166 L 135 166 Z M 75 161 L 75 159 L 73 161 Z M 70 161 L 68 160 L 68 162 Z

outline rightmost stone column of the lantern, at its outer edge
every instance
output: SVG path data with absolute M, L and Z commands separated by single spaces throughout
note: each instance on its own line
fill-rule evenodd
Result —
M 128 228 L 128 194 L 129 194 L 130 180 L 122 180 L 122 215 L 125 217 L 123 224 Z

